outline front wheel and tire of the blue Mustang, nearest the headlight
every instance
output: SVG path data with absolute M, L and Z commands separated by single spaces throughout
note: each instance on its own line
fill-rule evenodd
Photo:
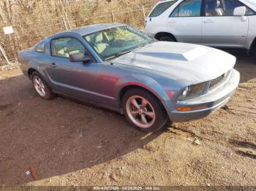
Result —
M 162 104 L 146 90 L 128 90 L 124 94 L 122 106 L 127 121 L 144 132 L 157 131 L 167 123 L 167 114 Z

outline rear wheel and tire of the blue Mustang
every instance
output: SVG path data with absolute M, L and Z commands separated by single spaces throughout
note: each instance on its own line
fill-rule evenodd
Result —
M 50 100 L 54 97 L 52 90 L 50 90 L 50 87 L 45 83 L 45 80 L 37 73 L 37 71 L 33 72 L 31 80 L 34 85 L 34 89 L 40 98 Z

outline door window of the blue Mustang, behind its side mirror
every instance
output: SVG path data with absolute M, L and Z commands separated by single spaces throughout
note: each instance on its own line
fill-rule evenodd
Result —
M 78 39 L 64 37 L 51 41 L 51 55 L 61 58 L 69 58 L 70 55 L 81 52 L 86 54 L 86 49 Z

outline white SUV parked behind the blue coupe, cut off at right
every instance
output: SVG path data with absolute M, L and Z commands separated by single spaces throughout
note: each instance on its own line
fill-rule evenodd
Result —
M 145 31 L 162 41 L 255 50 L 256 0 L 159 1 Z

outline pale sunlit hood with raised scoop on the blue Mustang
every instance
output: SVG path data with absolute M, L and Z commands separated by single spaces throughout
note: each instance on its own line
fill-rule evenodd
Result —
M 215 79 L 233 69 L 236 57 L 196 44 L 154 42 L 122 55 L 113 62 L 159 71 L 177 80 L 199 83 Z

